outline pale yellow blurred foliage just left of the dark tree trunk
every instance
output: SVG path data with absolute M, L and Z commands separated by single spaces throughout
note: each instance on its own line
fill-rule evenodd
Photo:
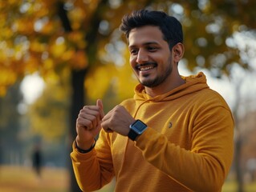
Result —
M 69 79 L 67 67 L 56 74 L 49 70 L 44 74 L 46 83 L 43 95 L 30 106 L 30 131 L 41 135 L 45 140 L 54 140 L 67 135 L 68 105 L 69 105 Z

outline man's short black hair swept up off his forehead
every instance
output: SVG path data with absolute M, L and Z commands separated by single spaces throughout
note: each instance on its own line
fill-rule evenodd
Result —
M 128 38 L 132 29 L 141 26 L 158 26 L 164 35 L 164 40 L 168 42 L 170 50 L 178 42 L 183 42 L 181 22 L 177 18 L 165 14 L 164 11 L 134 10 L 131 14 L 124 15 L 120 30 Z

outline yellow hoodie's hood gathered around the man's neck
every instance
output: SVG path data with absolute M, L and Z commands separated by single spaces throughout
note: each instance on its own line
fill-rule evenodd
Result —
M 136 101 L 152 101 L 152 102 L 165 102 L 170 101 L 176 98 L 180 98 L 185 94 L 191 94 L 198 90 L 208 89 L 209 86 L 206 83 L 205 74 L 199 72 L 196 75 L 190 75 L 188 77 L 181 76 L 185 80 L 185 84 L 178 86 L 177 88 L 170 90 L 169 92 L 161 95 L 157 95 L 156 97 L 150 97 L 146 91 L 144 86 L 141 84 L 137 85 L 135 88 L 134 99 Z

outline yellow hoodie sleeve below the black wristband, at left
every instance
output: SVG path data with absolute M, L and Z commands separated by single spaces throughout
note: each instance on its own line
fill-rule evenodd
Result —
M 100 190 L 111 182 L 114 177 L 112 156 L 108 140 L 104 131 L 100 132 L 100 139 L 96 142 L 96 150 L 81 154 L 75 149 L 71 153 L 71 161 L 76 181 L 83 191 Z

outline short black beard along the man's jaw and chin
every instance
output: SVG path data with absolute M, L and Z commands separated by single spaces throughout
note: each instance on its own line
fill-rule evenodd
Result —
M 147 81 L 140 82 L 140 84 L 142 84 L 143 86 L 151 87 L 151 88 L 159 86 L 162 82 L 165 82 L 165 79 L 169 77 L 172 71 L 173 71 L 173 66 L 170 64 L 169 67 L 165 70 L 164 74 L 158 75 L 154 79 L 149 79 Z

